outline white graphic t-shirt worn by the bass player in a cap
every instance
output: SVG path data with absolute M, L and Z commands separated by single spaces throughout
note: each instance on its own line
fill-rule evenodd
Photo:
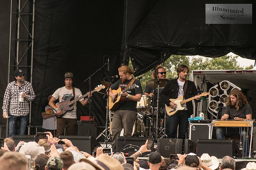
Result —
M 75 99 L 76 98 L 79 98 L 82 96 L 82 92 L 78 89 L 78 88 L 75 88 Z M 68 90 L 66 89 L 66 87 L 61 87 L 59 89 L 57 89 L 53 94 L 52 94 L 52 97 L 55 97 L 55 99 L 59 99 L 59 102 L 62 102 L 62 101 L 65 101 L 67 100 L 70 96 L 74 96 L 73 95 L 73 89 L 71 90 Z M 81 100 L 79 101 L 83 101 L 84 99 L 82 98 Z M 69 118 L 69 119 L 76 119 L 76 103 L 74 103 L 73 106 L 71 107 L 74 107 L 73 110 L 70 110 L 70 111 L 67 111 L 62 117 L 63 118 Z

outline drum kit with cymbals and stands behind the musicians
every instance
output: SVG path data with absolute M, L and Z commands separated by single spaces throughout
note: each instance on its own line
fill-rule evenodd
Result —
M 153 101 L 153 106 L 151 106 L 151 102 L 152 97 L 148 96 L 148 95 L 142 95 L 141 99 L 139 102 L 137 102 L 137 117 L 136 120 L 134 122 L 133 125 L 133 130 L 132 130 L 132 136 L 133 137 L 145 137 L 145 131 L 146 131 L 146 127 L 145 127 L 145 123 L 143 122 L 144 117 L 146 117 L 151 124 L 151 128 L 152 128 L 152 132 L 150 135 L 148 135 L 148 137 L 154 137 L 154 133 L 158 133 L 158 115 L 160 113 L 160 109 L 159 108 L 159 87 L 164 87 L 167 83 L 168 83 L 168 79 L 161 79 L 161 78 L 156 78 L 156 79 L 152 79 L 146 82 L 146 85 L 152 88 L 157 88 L 157 107 L 154 107 L 154 101 Z M 111 85 L 111 83 L 105 82 L 105 81 L 101 81 L 101 83 L 103 85 L 105 85 L 106 87 L 109 87 Z M 153 92 L 154 93 L 154 92 Z M 106 130 L 109 131 L 109 135 L 105 136 L 107 137 L 107 139 L 110 139 L 110 134 L 112 134 L 112 130 L 111 130 L 111 126 L 112 126 L 112 114 L 113 112 L 109 111 L 109 121 L 110 121 L 110 126 L 105 129 L 96 139 L 98 139 L 101 135 L 105 136 L 104 133 Z M 156 126 L 154 125 L 156 122 Z M 154 129 L 156 132 L 154 132 Z M 163 132 L 161 129 L 159 129 L 161 132 Z M 163 132 L 164 133 L 164 132 Z M 124 134 L 124 129 L 122 129 L 120 136 L 123 136 Z M 164 137 L 164 136 L 163 136 Z M 156 137 L 157 138 L 157 137 Z

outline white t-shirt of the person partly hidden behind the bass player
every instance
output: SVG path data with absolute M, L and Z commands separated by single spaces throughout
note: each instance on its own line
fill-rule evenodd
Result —
M 45 107 L 45 113 L 46 114 L 53 114 L 52 107 L 47 105 Z M 57 117 L 54 116 L 54 117 L 50 117 L 48 119 L 43 119 L 42 128 L 49 129 L 49 130 L 57 129 Z

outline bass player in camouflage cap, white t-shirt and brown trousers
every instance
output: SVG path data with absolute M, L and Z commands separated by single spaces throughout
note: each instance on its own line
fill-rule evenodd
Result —
M 64 75 L 65 86 L 57 89 L 49 101 L 49 105 L 57 111 L 56 115 L 62 115 L 63 113 L 54 104 L 55 100 L 59 99 L 60 102 L 65 101 L 70 96 L 74 96 L 74 99 L 82 96 L 82 92 L 78 88 L 72 86 L 74 80 L 73 73 L 66 72 Z M 89 92 L 87 92 L 89 96 Z M 92 93 L 91 93 L 92 95 Z M 90 99 L 89 99 L 90 100 Z M 83 106 L 88 104 L 88 98 L 79 100 Z M 72 106 L 74 110 L 67 111 L 62 117 L 57 117 L 57 134 L 56 137 L 64 135 L 66 127 L 66 135 L 74 135 L 74 123 L 76 122 L 76 103 Z

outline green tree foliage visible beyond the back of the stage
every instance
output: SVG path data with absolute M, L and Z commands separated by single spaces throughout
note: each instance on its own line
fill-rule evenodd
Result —
M 253 69 L 253 65 L 241 67 L 237 62 L 238 56 L 224 55 L 217 58 L 209 58 L 203 56 L 186 56 L 186 55 L 171 55 L 164 64 L 161 64 L 166 69 L 166 78 L 177 78 L 176 69 L 179 65 L 185 64 L 189 68 L 188 76 L 192 70 L 249 70 Z M 132 68 L 131 63 L 129 66 Z M 152 72 L 148 71 L 142 75 L 140 83 L 142 89 L 145 90 L 146 82 L 153 79 Z

